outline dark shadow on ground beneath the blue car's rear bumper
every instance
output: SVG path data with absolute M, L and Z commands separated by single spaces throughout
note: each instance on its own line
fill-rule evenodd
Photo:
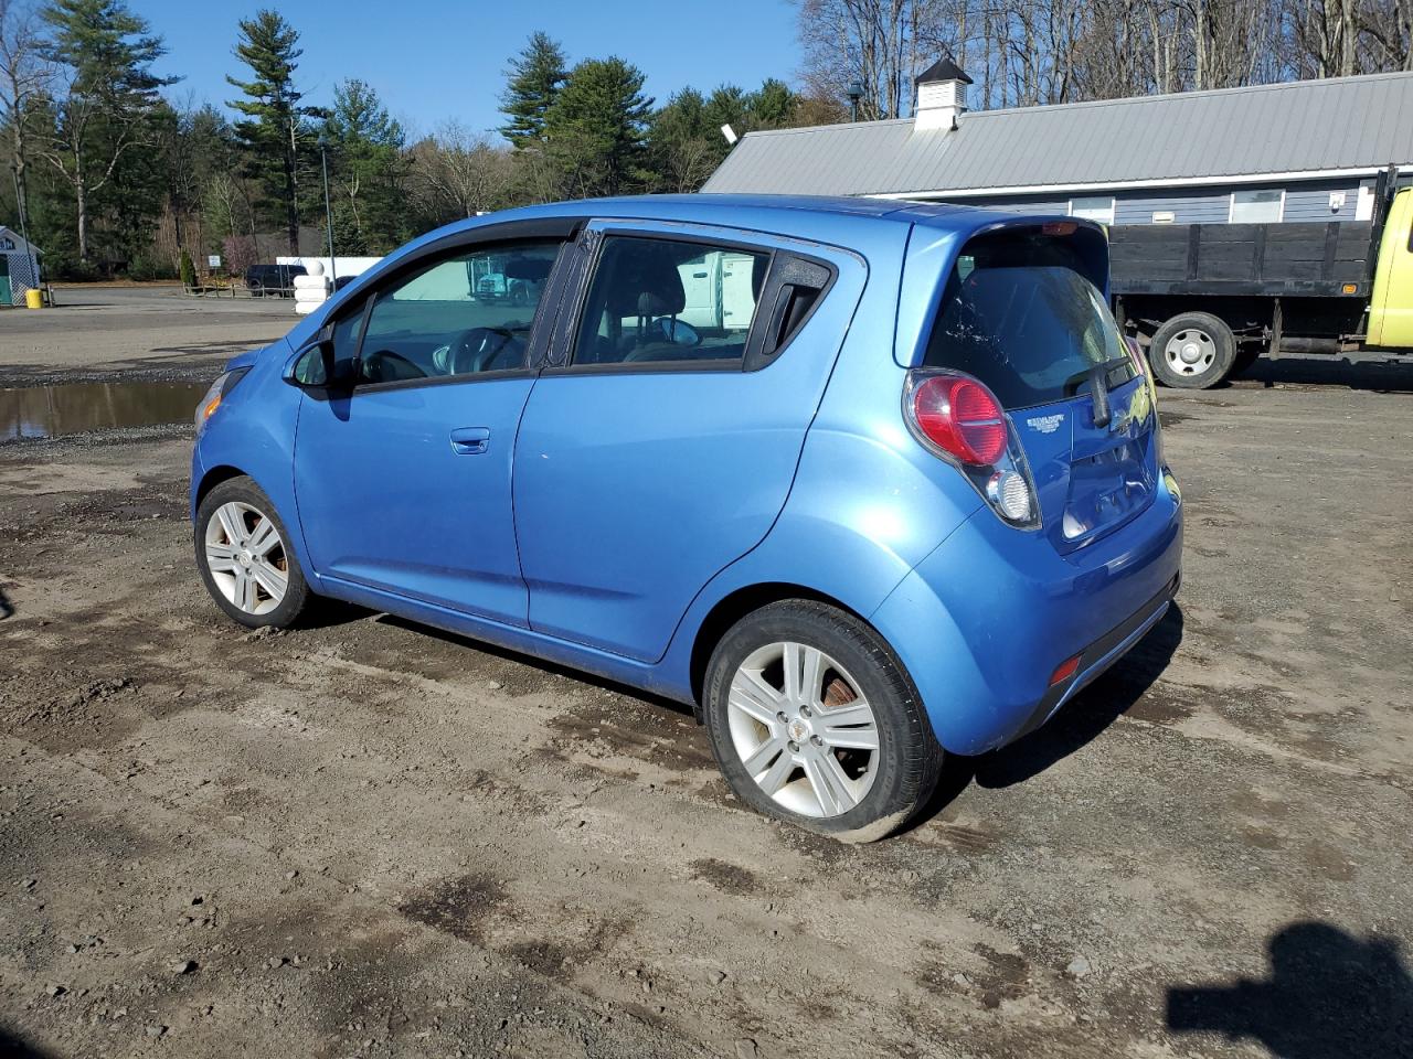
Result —
M 1181 642 L 1183 609 L 1174 602 L 1133 650 L 1080 692 L 1048 724 L 991 754 L 948 758 L 937 794 L 914 826 L 947 808 L 972 782 L 988 788 L 1022 784 L 1098 738 L 1153 686 Z

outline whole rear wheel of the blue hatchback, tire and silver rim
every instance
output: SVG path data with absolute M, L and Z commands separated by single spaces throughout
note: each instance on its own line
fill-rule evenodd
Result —
M 911 681 L 863 621 L 811 600 L 738 621 L 706 669 L 712 751 L 736 795 L 844 842 L 903 826 L 942 751 Z

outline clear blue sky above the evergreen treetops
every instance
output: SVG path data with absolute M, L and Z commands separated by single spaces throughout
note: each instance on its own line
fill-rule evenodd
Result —
M 766 76 L 793 83 L 800 64 L 796 8 L 787 0 L 709 0 L 690 8 L 673 0 L 129 1 L 167 41 L 157 69 L 184 78 L 170 89 L 175 100 L 189 95 L 219 106 L 230 99 L 226 73 L 246 72 L 232 54 L 236 23 L 261 6 L 278 7 L 301 35 L 298 79 L 309 103 L 328 103 L 336 82 L 357 76 L 413 133 L 448 119 L 495 128 L 506 62 L 536 30 L 558 40 L 571 64 L 608 55 L 636 64 L 658 103 L 685 85 L 755 88 Z

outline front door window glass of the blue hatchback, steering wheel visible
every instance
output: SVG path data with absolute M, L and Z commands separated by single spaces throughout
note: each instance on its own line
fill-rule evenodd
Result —
M 558 243 L 439 258 L 373 295 L 356 381 L 397 383 L 523 367 Z

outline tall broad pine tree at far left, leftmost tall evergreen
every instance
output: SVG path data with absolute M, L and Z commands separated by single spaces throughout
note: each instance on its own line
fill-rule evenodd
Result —
M 49 27 L 44 58 L 66 83 L 40 155 L 73 193 L 78 256 L 88 261 L 92 195 L 114 179 L 124 155 L 150 143 L 158 89 L 177 79 L 151 72 L 167 48 L 124 0 L 51 0 L 40 17 Z

